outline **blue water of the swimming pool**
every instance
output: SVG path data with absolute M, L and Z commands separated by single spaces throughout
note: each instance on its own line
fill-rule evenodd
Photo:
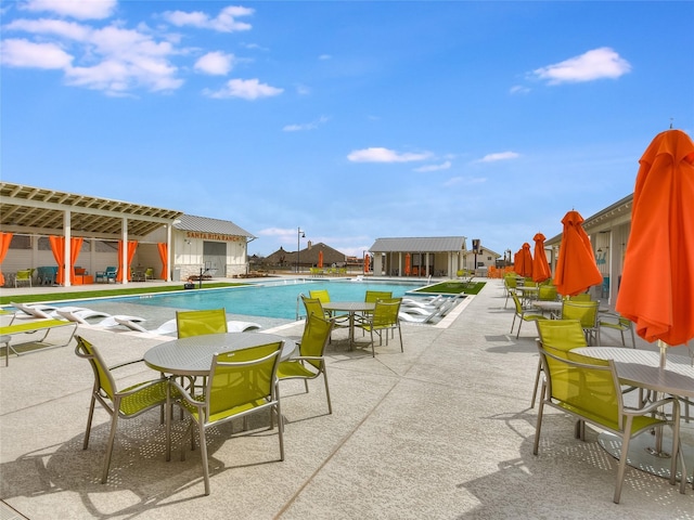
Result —
M 121 297 L 111 301 L 130 306 L 190 310 L 223 307 L 230 314 L 295 320 L 297 298 L 300 294 L 308 296 L 309 290 L 327 289 L 331 300 L 335 301 L 363 301 L 367 290 L 390 290 L 394 298 L 398 298 L 404 296 L 407 291 L 421 286 L 421 283 L 395 284 L 371 281 L 286 281 L 223 289 L 185 290 L 174 294 Z M 107 303 L 110 300 L 94 300 L 94 302 L 97 301 L 99 303 Z M 82 301 L 79 304 L 90 307 L 88 303 L 88 301 Z M 300 312 L 303 312 L 303 308 Z

